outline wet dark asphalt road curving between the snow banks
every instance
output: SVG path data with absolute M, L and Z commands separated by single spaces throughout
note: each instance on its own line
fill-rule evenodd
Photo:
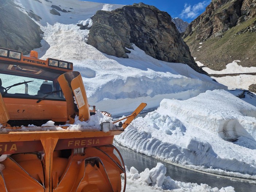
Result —
M 236 192 L 256 192 L 256 184 L 250 184 L 248 182 L 234 181 L 223 177 L 218 177 L 215 175 L 209 175 L 202 172 L 193 171 L 190 169 L 182 168 L 167 162 L 157 160 L 155 158 L 146 156 L 141 153 L 136 153 L 131 149 L 124 148 L 118 144 L 115 144 L 120 153 L 124 158 L 125 165 L 128 169 L 134 166 L 139 173 L 144 171 L 146 168 L 152 169 L 156 166 L 158 162 L 161 162 L 166 166 L 167 172 L 166 176 L 170 176 L 176 181 L 182 181 L 186 183 L 197 183 L 197 184 L 208 184 L 212 188 L 217 187 L 234 187 Z

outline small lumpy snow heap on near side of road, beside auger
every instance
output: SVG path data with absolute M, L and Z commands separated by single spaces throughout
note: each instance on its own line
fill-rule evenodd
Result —
M 158 163 L 155 168 L 139 173 L 134 167 L 131 167 L 130 171 L 126 171 L 127 174 L 127 187 L 126 191 L 163 191 L 163 190 L 175 190 L 177 192 L 191 191 L 191 192 L 234 192 L 233 187 L 222 187 L 220 190 L 217 187 L 210 187 L 207 184 L 197 183 L 184 183 L 171 179 L 170 176 L 165 176 L 166 167 Z M 143 187 L 141 187 L 141 185 Z M 151 188 L 146 188 L 151 186 Z

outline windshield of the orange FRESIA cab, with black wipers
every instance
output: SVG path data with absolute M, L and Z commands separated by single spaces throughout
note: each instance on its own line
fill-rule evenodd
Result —
M 20 77 L 15 75 L 0 74 L 3 97 L 18 97 L 18 98 L 42 98 L 51 91 L 60 90 L 59 84 L 54 85 L 53 81 L 35 79 L 29 77 Z M 20 85 L 19 85 L 20 84 Z M 56 84 L 56 83 L 55 83 Z M 6 92 L 6 93 L 4 93 Z M 52 93 L 45 99 L 65 100 L 62 92 Z

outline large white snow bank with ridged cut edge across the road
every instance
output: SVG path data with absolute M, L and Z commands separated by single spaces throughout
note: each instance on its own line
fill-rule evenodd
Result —
M 163 99 L 115 140 L 160 160 L 256 179 L 255 112 L 255 106 L 224 90 L 184 101 Z

